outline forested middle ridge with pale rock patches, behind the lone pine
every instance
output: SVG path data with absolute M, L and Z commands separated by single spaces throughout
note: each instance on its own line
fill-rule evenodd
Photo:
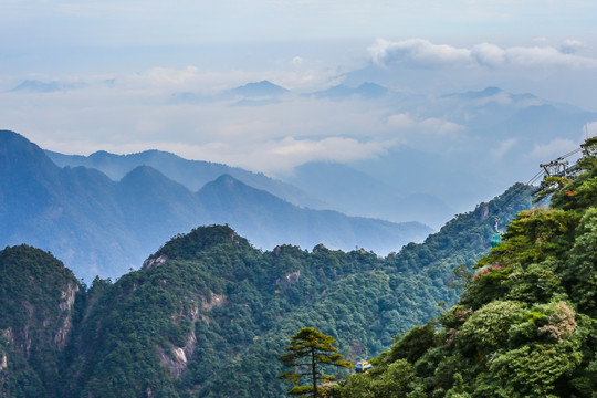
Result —
M 263 252 L 227 226 L 197 228 L 166 243 L 142 270 L 83 289 L 70 307 L 67 344 L 52 354 L 59 359 L 38 362 L 60 377 L 35 388 L 45 397 L 284 396 L 276 358 L 296 331 L 313 326 L 333 335 L 349 360 L 378 355 L 395 335 L 437 315 L 438 303 L 455 302 L 452 270 L 489 250 L 494 217 L 510 219 L 530 207 L 528 188 L 514 186 L 385 259 L 324 245 Z M 43 283 L 27 273 L 11 280 L 24 294 Z M 10 358 L 10 349 L 20 349 L 2 344 Z M 9 359 L 0 369 L 2 391 L 18 388 L 15 369 L 45 375 L 31 358 L 14 358 L 20 367 Z

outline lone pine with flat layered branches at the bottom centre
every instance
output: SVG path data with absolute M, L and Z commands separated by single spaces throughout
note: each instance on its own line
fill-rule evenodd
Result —
M 317 397 L 317 387 L 321 383 L 332 381 L 334 376 L 323 373 L 325 366 L 337 366 L 353 368 L 353 364 L 343 360 L 343 355 L 333 346 L 336 339 L 324 335 L 313 327 L 303 327 L 296 335 L 292 336 L 291 345 L 286 347 L 290 354 L 282 355 L 280 360 L 285 366 L 294 367 L 279 378 L 286 379 L 295 386 L 286 392 L 293 396 L 305 396 L 305 394 Z M 311 386 L 298 386 L 303 376 L 311 377 Z

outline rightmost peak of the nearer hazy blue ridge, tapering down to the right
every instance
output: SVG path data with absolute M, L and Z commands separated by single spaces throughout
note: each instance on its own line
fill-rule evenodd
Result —
M 197 197 L 209 209 L 210 222 L 230 223 L 245 237 L 259 237 L 252 242 L 263 249 L 274 248 L 280 242 L 301 248 L 324 243 L 328 248 L 344 250 L 366 248 L 385 255 L 409 241 L 420 242 L 431 232 L 418 222 L 397 224 L 379 219 L 346 217 L 332 210 L 301 209 L 229 175 L 207 184 Z

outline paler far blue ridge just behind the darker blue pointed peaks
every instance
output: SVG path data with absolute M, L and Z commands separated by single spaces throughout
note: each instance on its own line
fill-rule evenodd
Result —
M 308 163 L 297 167 L 285 180 L 280 180 L 238 167 L 187 160 L 155 149 L 128 155 L 104 150 L 88 156 L 51 150 L 45 150 L 45 154 L 60 167 L 95 168 L 113 180 L 122 179 L 135 167 L 150 166 L 192 191 L 227 174 L 301 208 L 336 210 L 357 217 L 366 214 L 384 220 L 437 226 L 438 220 L 454 213 L 451 207 L 433 195 L 398 192 L 364 171 L 337 163 Z

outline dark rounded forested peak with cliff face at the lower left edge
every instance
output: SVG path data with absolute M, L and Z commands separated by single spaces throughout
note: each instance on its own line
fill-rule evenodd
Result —
M 78 290 L 50 253 L 24 244 L 0 251 L 0 396 L 55 396 Z

